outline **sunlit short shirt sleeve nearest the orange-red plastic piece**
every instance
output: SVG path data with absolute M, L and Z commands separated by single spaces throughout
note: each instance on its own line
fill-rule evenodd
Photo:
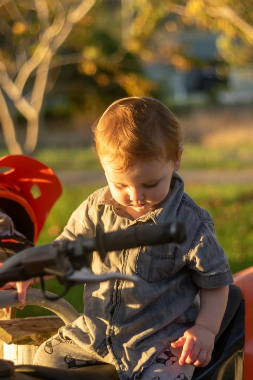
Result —
M 63 232 L 55 241 L 62 239 L 73 241 L 78 235 L 94 236 L 94 229 L 94 224 L 89 217 L 88 199 L 86 199 L 70 216 Z

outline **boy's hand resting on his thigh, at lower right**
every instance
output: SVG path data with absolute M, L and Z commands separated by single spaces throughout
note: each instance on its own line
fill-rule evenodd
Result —
M 171 346 L 182 347 L 183 351 L 179 364 L 192 364 L 196 367 L 205 367 L 211 360 L 215 334 L 205 327 L 195 325 Z

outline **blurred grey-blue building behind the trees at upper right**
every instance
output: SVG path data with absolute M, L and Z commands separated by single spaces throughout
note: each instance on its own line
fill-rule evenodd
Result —
M 153 43 L 162 51 L 178 45 L 191 61 L 189 68 L 176 68 L 164 59 L 146 63 L 145 72 L 157 83 L 168 101 L 176 104 L 250 103 L 253 101 L 253 71 L 249 67 L 225 66 L 216 47 L 217 35 L 196 29 L 158 31 Z M 165 95 L 166 98 L 166 95 Z

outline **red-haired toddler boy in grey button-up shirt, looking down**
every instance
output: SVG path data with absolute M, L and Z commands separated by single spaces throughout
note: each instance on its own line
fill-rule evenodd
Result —
M 58 239 L 94 236 L 97 223 L 108 232 L 181 222 L 187 240 L 110 252 L 104 262 L 94 252 L 95 274 L 120 271 L 140 281 L 85 285 L 84 314 L 43 344 L 35 363 L 113 363 L 121 380 L 190 380 L 210 361 L 233 279 L 211 216 L 176 174 L 179 123 L 158 100 L 132 97 L 111 104 L 94 135 L 108 186 L 79 206 Z

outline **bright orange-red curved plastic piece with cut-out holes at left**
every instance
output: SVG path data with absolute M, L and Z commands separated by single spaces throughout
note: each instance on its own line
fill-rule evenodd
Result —
M 24 155 L 1 157 L 1 168 L 0 207 L 12 218 L 17 231 L 35 244 L 62 194 L 61 182 L 50 167 Z

